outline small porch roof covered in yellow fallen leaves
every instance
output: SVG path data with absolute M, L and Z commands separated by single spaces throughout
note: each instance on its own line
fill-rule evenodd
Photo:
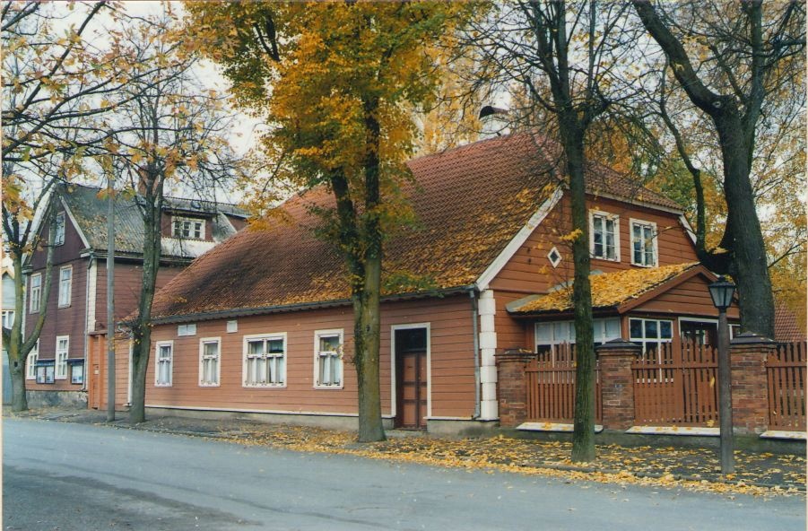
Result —
M 699 262 L 674 264 L 651 269 L 626 269 L 605 274 L 589 275 L 592 285 L 592 308 L 615 308 L 623 302 L 637 299 L 680 274 L 699 266 Z M 538 297 L 514 301 L 508 305 L 512 313 L 541 313 L 572 309 L 572 284 Z

